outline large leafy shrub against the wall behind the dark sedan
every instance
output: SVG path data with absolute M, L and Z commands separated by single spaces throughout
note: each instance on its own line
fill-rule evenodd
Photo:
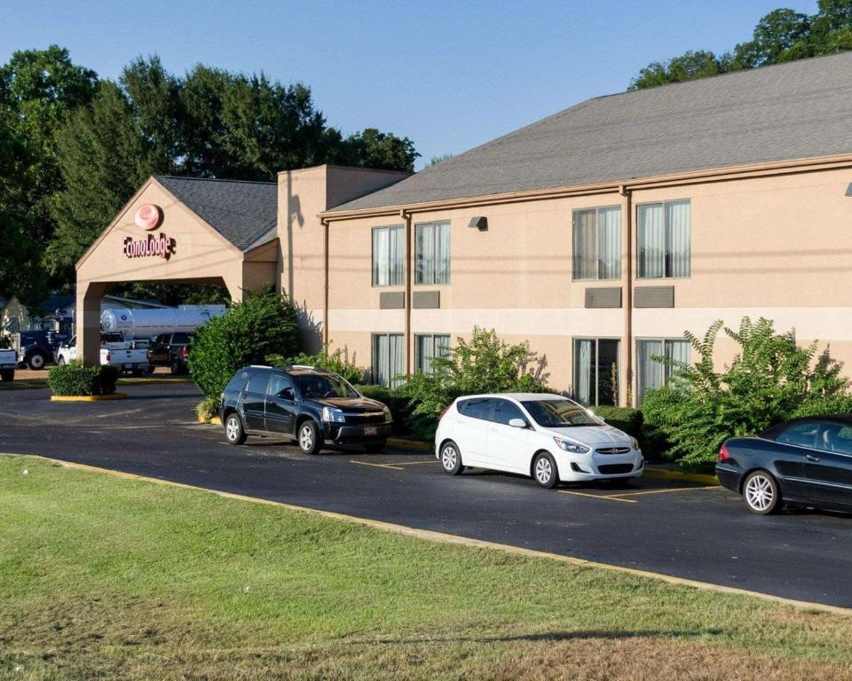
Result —
M 716 372 L 713 357 L 720 332 L 739 350 Z M 714 466 L 729 437 L 759 434 L 798 416 L 852 408 L 849 381 L 840 375 L 842 364 L 829 348 L 819 352 L 817 342 L 801 347 L 793 331 L 777 333 L 769 319 L 743 317 L 737 330 L 717 321 L 703 337 L 683 335 L 698 361 L 656 357 L 673 366 L 673 376 L 667 387 L 645 393 L 642 411 L 647 427 L 665 436 L 669 454 L 684 468 Z

